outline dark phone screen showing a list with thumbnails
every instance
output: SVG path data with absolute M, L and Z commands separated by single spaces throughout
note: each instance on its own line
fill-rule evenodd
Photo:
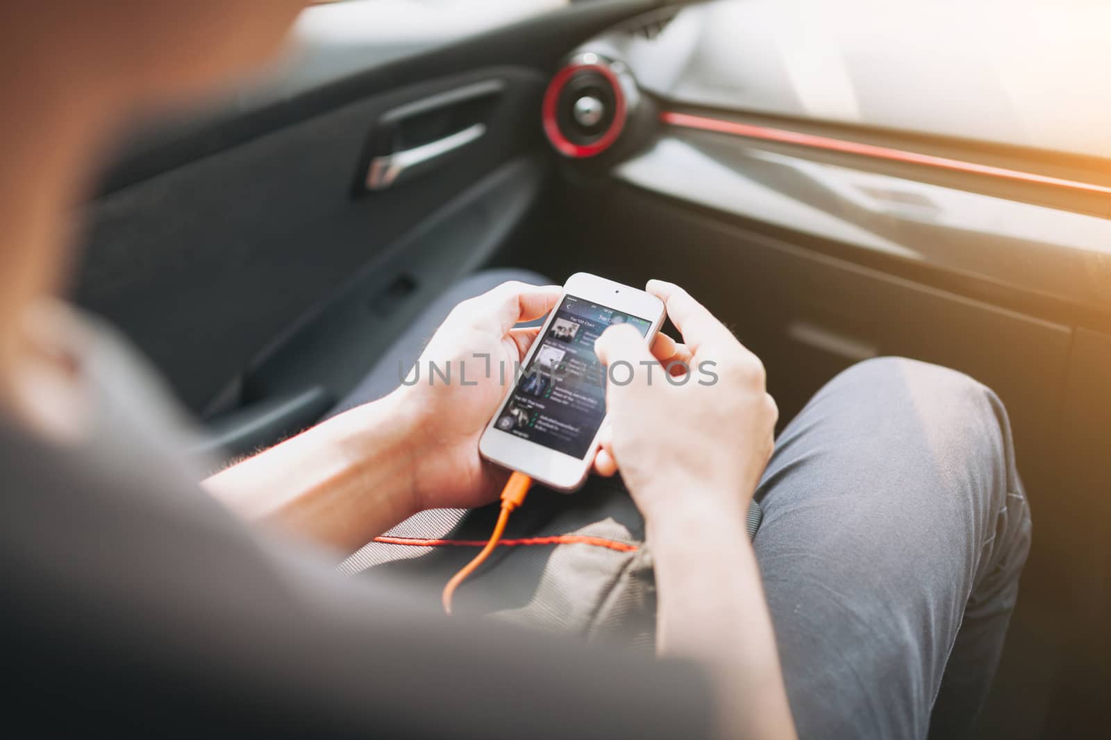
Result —
M 612 324 L 647 336 L 652 322 L 568 295 L 513 386 L 494 427 L 582 458 L 605 417 L 605 368 L 594 341 Z M 641 372 L 643 368 L 633 368 Z M 624 375 L 621 376 L 622 378 Z

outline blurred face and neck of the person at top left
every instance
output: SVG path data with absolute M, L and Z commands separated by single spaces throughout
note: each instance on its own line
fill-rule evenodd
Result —
M 106 138 L 260 65 L 304 4 L 0 0 L 0 403 L 27 354 L 21 316 L 61 284 L 68 210 Z

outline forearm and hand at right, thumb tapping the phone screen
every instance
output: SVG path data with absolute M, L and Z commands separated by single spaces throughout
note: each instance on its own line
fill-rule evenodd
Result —
M 681 385 L 657 371 L 607 387 L 610 428 L 598 468 L 620 467 L 644 515 L 659 594 L 659 652 L 693 658 L 710 671 L 722 737 L 793 738 L 775 635 L 744 528 L 778 416 L 763 366 L 682 288 L 653 281 L 648 290 L 667 304 L 685 342 L 670 343 L 663 365 L 682 363 L 690 372 Z M 597 351 L 608 365 L 652 363 L 629 327 L 608 330 Z M 712 375 L 703 363 L 712 363 Z

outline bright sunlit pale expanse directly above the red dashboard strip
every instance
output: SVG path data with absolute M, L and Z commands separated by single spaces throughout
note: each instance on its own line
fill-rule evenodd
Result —
M 1111 156 L 1111 3 L 718 0 L 631 38 L 673 101 Z

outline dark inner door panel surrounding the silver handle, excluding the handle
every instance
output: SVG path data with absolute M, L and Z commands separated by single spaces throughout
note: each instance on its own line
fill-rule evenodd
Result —
M 489 80 L 504 83 L 486 119 L 489 131 L 451 166 L 352 195 L 383 113 Z M 78 297 L 124 326 L 181 398 L 204 409 L 267 342 L 343 278 L 389 253 L 477 174 L 533 145 L 527 121 L 541 88 L 539 74 L 520 69 L 431 81 L 111 193 L 90 212 Z

